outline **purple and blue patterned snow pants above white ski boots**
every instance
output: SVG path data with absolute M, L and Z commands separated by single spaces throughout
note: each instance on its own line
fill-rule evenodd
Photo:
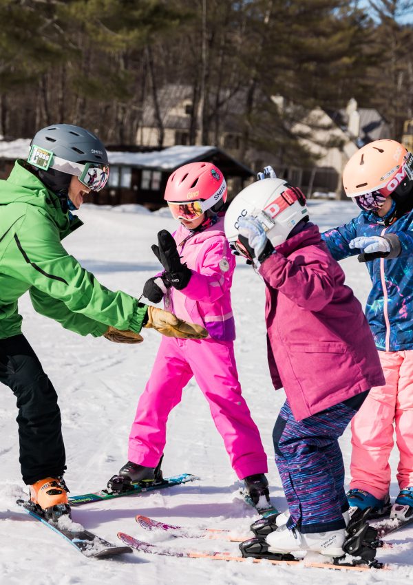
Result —
M 290 510 L 289 528 L 302 533 L 345 528 L 348 510 L 338 438 L 368 392 L 296 421 L 288 401 L 273 430 L 275 463 Z

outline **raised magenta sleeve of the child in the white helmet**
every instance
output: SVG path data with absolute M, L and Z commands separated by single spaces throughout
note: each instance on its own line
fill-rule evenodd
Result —
M 271 286 L 299 307 L 322 310 L 335 293 L 335 270 L 328 252 L 317 246 L 301 248 L 289 258 L 274 253 L 260 266 L 260 274 Z

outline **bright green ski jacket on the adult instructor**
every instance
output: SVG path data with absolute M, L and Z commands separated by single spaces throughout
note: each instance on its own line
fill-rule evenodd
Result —
M 147 305 L 102 286 L 63 248 L 82 224 L 23 160 L 0 180 L 0 339 L 21 333 L 17 301 L 27 290 L 37 312 L 81 335 L 140 332 Z

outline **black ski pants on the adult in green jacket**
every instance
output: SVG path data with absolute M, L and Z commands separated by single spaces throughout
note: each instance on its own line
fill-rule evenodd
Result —
M 57 394 L 24 335 L 0 339 L 0 382 L 17 398 L 23 481 L 30 485 L 62 476 L 65 447 Z

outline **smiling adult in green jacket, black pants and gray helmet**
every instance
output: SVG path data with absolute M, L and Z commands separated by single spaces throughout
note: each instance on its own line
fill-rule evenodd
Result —
M 102 286 L 63 248 L 82 225 L 71 211 L 107 182 L 103 143 L 81 127 L 37 132 L 28 161 L 0 181 L 0 382 L 17 398 L 20 464 L 30 505 L 45 518 L 70 513 L 65 447 L 54 387 L 21 333 L 17 301 L 27 290 L 37 312 L 81 335 L 139 343 L 143 327 L 169 337 L 206 337 L 198 325 Z

